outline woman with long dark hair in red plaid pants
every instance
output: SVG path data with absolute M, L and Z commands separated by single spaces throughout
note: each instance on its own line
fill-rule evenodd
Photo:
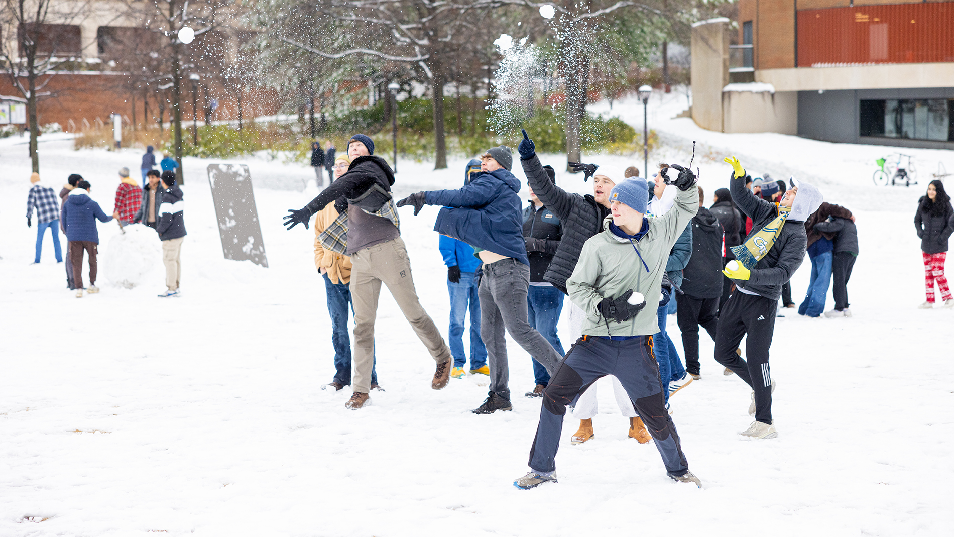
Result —
M 927 185 L 927 195 L 918 202 L 918 213 L 914 216 L 914 227 L 921 238 L 921 251 L 924 258 L 924 291 L 927 300 L 918 306 L 922 309 L 934 307 L 934 283 L 941 290 L 941 300 L 945 308 L 954 307 L 947 279 L 944 277 L 944 258 L 947 257 L 947 239 L 954 233 L 954 207 L 951 198 L 944 192 L 944 183 L 933 180 Z

